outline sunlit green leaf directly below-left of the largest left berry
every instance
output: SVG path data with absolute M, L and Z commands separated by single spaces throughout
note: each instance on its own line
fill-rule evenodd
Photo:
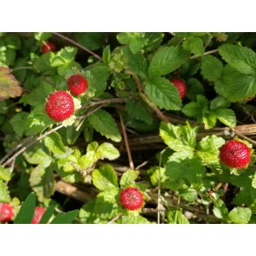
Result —
M 30 115 L 28 115 L 24 123 L 25 135 L 41 133 L 45 128 L 48 128 L 52 122 L 53 121 L 44 111 L 44 106 L 38 106 L 30 112 Z

